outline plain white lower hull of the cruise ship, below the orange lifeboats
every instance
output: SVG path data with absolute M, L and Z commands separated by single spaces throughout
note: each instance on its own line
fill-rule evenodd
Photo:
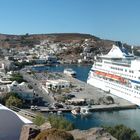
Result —
M 140 97 L 132 88 L 98 77 L 88 78 L 87 83 L 140 106 Z

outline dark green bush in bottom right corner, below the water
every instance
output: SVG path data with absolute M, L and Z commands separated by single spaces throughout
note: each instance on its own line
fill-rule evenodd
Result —
M 104 128 L 118 140 L 140 140 L 136 130 L 132 130 L 124 125 L 116 125 L 114 127 Z

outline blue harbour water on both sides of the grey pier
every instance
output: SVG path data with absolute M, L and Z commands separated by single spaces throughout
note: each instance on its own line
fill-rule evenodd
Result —
M 77 78 L 86 82 L 91 65 L 58 65 L 38 67 L 37 70 L 62 72 L 65 68 L 72 68 L 77 72 Z M 100 127 L 102 125 L 113 126 L 116 124 L 124 124 L 135 129 L 137 133 L 140 134 L 140 109 L 93 112 L 89 118 L 75 117 L 71 113 L 65 113 L 64 116 L 73 122 L 77 129 L 81 130 L 91 127 Z

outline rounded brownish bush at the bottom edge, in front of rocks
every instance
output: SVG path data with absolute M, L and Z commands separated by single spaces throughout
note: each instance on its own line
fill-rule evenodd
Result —
M 52 128 L 39 133 L 35 140 L 74 140 L 74 138 L 68 132 Z

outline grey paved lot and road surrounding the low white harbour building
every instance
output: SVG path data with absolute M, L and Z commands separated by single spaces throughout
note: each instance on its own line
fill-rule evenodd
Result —
M 112 96 L 116 106 L 133 106 L 134 104 L 126 101 L 122 98 L 114 96 L 112 94 L 105 93 L 104 91 L 97 89 L 91 85 L 86 84 L 85 82 L 79 81 L 75 78 L 64 75 L 63 73 L 35 73 L 35 74 L 27 74 L 26 71 L 21 71 L 23 77 L 33 86 L 36 93 L 39 94 L 40 97 L 43 97 L 45 101 L 48 103 L 54 103 L 54 99 L 52 98 L 52 94 L 47 94 L 46 91 L 42 89 L 42 82 L 47 79 L 58 79 L 63 78 L 72 83 L 74 88 L 71 89 L 71 94 L 75 95 L 75 98 L 85 98 L 85 99 L 93 99 L 95 102 L 98 102 L 99 98 L 105 96 Z M 104 105 L 103 105 L 104 106 Z

